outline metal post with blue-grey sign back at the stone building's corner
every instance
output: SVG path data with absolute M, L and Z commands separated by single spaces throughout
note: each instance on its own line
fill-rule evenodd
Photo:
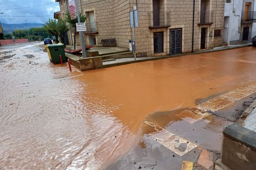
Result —
M 132 11 L 130 12 L 130 24 L 132 28 L 133 41 L 131 42 L 131 50 L 134 54 L 134 60 L 136 60 L 136 45 L 135 45 L 135 27 L 139 27 L 138 24 L 138 10 L 137 6 L 133 6 Z

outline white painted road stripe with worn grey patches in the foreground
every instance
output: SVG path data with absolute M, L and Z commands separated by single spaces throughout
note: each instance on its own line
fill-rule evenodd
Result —
M 152 123 L 149 121 L 144 121 L 144 123 L 149 126 L 154 127 L 156 132 L 152 132 L 148 134 L 153 139 L 155 139 L 158 143 L 165 146 L 169 150 L 173 151 L 175 154 L 182 156 L 192 149 L 196 148 L 197 145 L 183 139 L 177 135 L 172 134 L 170 131 Z

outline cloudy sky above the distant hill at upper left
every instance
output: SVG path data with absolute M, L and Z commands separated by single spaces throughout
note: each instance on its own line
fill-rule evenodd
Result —
M 36 6 L 52 3 L 43 6 Z M 36 6 L 31 8 L 24 8 L 28 6 Z M 20 9 L 12 9 L 20 8 Z M 55 0 L 0 0 L 0 21 L 6 24 L 21 24 L 25 23 L 43 23 L 53 18 L 53 13 L 59 11 L 59 3 Z M 6 17 L 5 17 L 6 16 Z M 8 16 L 8 17 L 7 17 Z M 22 16 L 22 17 L 9 17 Z M 29 17 L 39 16 L 39 17 Z

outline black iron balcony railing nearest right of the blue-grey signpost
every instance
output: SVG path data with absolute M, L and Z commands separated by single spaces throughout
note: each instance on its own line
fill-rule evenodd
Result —
M 171 13 L 148 13 L 149 28 L 165 28 L 171 26 Z

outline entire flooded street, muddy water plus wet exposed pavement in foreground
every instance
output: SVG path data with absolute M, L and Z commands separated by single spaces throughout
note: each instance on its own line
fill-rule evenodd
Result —
M 256 82 L 253 47 L 86 72 L 42 47 L 0 47 L 2 169 L 209 169 L 236 102 L 197 106 Z

